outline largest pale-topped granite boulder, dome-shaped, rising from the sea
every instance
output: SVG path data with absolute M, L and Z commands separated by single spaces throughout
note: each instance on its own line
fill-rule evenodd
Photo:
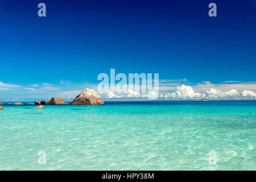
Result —
M 100 105 L 104 104 L 104 102 L 101 100 L 100 95 L 95 92 L 93 89 L 84 89 L 82 93 L 79 94 L 75 98 L 75 100 L 72 101 L 73 105 Z

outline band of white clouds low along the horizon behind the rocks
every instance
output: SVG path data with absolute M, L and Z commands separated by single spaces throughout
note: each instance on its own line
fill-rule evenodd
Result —
M 74 84 L 61 80 L 58 84 L 42 83 L 22 86 L 0 81 L 0 101 L 35 101 L 51 97 L 63 97 L 65 101 L 73 100 L 85 88 L 92 88 L 97 92 L 97 84 Z M 128 90 L 126 94 L 108 92 L 100 94 L 105 101 L 112 100 L 147 100 L 155 97 L 156 92 L 146 94 L 135 90 Z M 183 80 L 159 80 L 158 100 L 255 100 L 256 82 L 224 81 L 213 84 L 209 81 L 190 83 Z

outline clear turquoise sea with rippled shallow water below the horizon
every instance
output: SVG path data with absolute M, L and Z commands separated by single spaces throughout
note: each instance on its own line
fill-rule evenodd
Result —
M 0 170 L 256 170 L 255 101 L 2 107 Z

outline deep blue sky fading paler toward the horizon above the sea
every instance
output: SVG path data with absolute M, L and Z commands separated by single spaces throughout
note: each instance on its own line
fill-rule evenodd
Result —
M 208 16 L 210 2 L 217 17 Z M 253 0 L 1 0 L 0 100 L 71 99 L 110 68 L 159 73 L 163 94 L 184 84 L 255 98 L 255 10 Z

